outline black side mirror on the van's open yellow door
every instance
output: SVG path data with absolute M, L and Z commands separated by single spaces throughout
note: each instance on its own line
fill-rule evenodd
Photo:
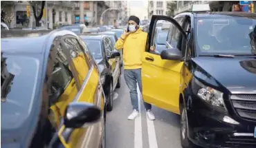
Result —
M 183 56 L 178 48 L 168 48 L 161 52 L 161 59 L 173 60 L 173 61 L 183 61 Z

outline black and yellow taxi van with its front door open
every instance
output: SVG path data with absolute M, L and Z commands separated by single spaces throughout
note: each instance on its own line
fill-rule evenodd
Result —
M 255 148 L 256 14 L 209 10 L 152 17 L 143 98 L 181 114 L 183 148 Z M 170 29 L 165 50 L 157 53 L 156 24 L 163 20 Z

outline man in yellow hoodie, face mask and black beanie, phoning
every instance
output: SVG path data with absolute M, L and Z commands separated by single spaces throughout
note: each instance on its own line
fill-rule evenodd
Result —
M 141 83 L 141 66 L 142 55 L 147 43 L 147 33 L 139 28 L 139 24 L 140 19 L 138 19 L 138 17 L 129 17 L 127 31 L 122 34 L 115 45 L 117 50 L 123 49 L 124 76 L 127 86 L 130 89 L 131 104 L 133 106 L 133 112 L 128 117 L 128 120 L 134 120 L 139 116 L 137 83 L 140 92 L 143 91 Z M 144 106 L 149 120 L 155 120 L 154 114 L 151 111 L 152 105 L 144 103 Z

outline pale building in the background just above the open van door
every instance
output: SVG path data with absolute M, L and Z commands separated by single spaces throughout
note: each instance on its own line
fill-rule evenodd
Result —
M 148 1 L 148 18 L 152 15 L 167 15 L 168 1 Z

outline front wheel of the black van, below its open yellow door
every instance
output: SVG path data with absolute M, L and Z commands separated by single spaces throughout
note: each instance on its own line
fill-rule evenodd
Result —
M 181 146 L 183 148 L 194 148 L 194 144 L 188 139 L 188 124 L 185 107 L 181 105 Z

